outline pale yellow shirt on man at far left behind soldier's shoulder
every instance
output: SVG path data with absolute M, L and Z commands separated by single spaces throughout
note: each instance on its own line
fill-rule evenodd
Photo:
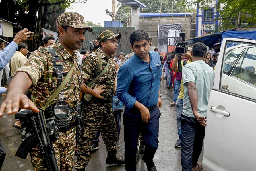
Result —
M 28 59 L 21 52 L 16 51 L 10 61 L 11 76 L 18 70 L 22 65 L 26 64 Z

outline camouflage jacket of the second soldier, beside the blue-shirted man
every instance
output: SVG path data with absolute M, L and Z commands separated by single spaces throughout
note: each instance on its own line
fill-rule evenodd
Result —
M 98 84 L 98 86 L 106 86 L 104 88 L 106 91 L 100 94 L 103 97 L 103 100 L 111 100 L 113 94 L 115 93 L 114 83 L 116 77 L 116 70 L 112 61 L 112 56 L 110 56 L 109 60 L 110 62 L 108 70 L 95 82 L 95 84 Z M 83 60 L 81 69 L 83 78 L 86 79 L 86 84 L 89 84 L 96 76 L 98 76 L 104 70 L 105 66 L 108 63 L 107 61 L 107 55 L 102 51 L 101 48 L 98 48 L 97 50 L 95 50 L 95 52 L 92 52 L 90 56 Z

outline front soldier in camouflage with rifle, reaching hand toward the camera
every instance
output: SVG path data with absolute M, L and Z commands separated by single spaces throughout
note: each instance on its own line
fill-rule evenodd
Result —
M 48 48 L 39 48 L 34 51 L 24 66 L 20 67 L 11 81 L 6 100 L 2 103 L 0 113 L 5 109 L 7 114 L 17 113 L 19 108 L 30 109 L 39 112 L 39 109 L 46 105 L 53 92 L 58 88 L 57 76 L 54 75 L 53 61 L 49 49 L 54 49 L 61 61 L 55 61 L 62 64 L 63 77 L 67 74 L 74 64 L 74 70 L 68 83 L 63 88 L 64 102 L 71 109 L 75 109 L 80 101 L 80 90 L 85 89 L 82 84 L 82 74 L 76 62 L 78 58 L 75 50 L 82 46 L 85 40 L 86 30 L 92 31 L 92 28 L 85 25 L 84 17 L 75 12 L 66 12 L 57 19 L 59 40 Z M 30 101 L 25 92 L 31 88 L 32 97 L 36 105 Z M 59 101 L 59 96 L 54 99 Z M 48 105 L 47 107 L 50 107 Z M 75 118 L 77 111 L 71 111 L 69 118 Z M 48 113 L 45 112 L 45 117 Z M 75 156 L 75 120 L 70 119 L 70 125 L 66 130 L 59 130 L 59 139 L 53 142 L 55 157 L 59 170 L 73 169 L 73 160 Z M 40 152 L 39 144 L 35 145 L 31 152 L 31 162 L 33 170 L 47 170 Z

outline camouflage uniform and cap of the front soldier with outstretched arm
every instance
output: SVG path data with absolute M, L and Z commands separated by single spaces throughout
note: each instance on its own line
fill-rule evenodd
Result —
M 80 20 L 79 20 L 80 19 Z M 72 27 L 86 28 L 86 25 L 82 25 L 84 18 L 82 15 L 74 12 L 63 13 L 57 19 L 58 26 L 63 26 L 64 22 L 72 20 L 70 24 Z M 77 23 L 77 25 L 75 25 Z M 64 23 L 65 24 L 65 23 Z M 90 30 L 91 28 L 88 28 Z M 73 63 L 75 63 L 73 74 L 69 78 L 68 83 L 64 87 L 64 102 L 69 105 L 69 107 L 76 107 L 80 101 L 80 89 L 82 84 L 82 74 L 79 70 L 77 62 L 77 55 L 74 53 L 71 55 L 69 52 L 59 43 L 56 42 L 49 46 L 49 48 L 55 49 L 57 55 L 61 58 L 63 66 L 63 74 L 68 73 Z M 36 106 L 40 109 L 46 105 L 46 102 L 51 97 L 52 93 L 58 88 L 57 77 L 53 76 L 53 62 L 51 54 L 48 48 L 39 48 L 34 51 L 26 64 L 20 67 L 17 72 L 26 72 L 32 80 L 32 96 L 35 98 Z M 16 74 L 15 73 L 15 74 Z M 63 76 L 63 80 L 64 80 Z M 57 96 L 54 101 L 58 101 L 59 96 Z M 50 105 L 48 105 L 49 107 Z M 70 117 L 77 115 L 77 111 L 71 112 Z M 47 113 L 45 113 L 47 118 Z M 72 124 L 74 121 L 71 121 Z M 55 157 L 59 170 L 69 170 L 73 169 L 73 159 L 75 156 L 75 140 L 76 137 L 76 127 L 73 126 L 67 131 L 59 132 L 59 139 L 53 143 L 53 148 L 55 151 Z M 31 162 L 33 170 L 47 170 L 43 165 L 43 158 L 40 152 L 39 144 L 35 145 L 31 152 Z

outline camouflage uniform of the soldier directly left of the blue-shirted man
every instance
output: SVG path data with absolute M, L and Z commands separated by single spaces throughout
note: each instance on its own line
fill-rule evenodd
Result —
M 113 38 L 110 37 L 109 39 Z M 106 91 L 100 94 L 103 99 L 92 97 L 90 101 L 83 103 L 84 113 L 81 122 L 83 132 L 78 137 L 76 169 L 84 169 L 87 166 L 91 158 L 92 142 L 98 130 L 101 132 L 108 155 L 115 156 L 117 153 L 117 126 L 111 105 L 115 93 L 116 77 L 112 56 L 108 59 L 102 49 L 98 48 L 83 60 L 81 68 L 83 78 L 87 80 L 87 83 L 90 83 L 104 70 L 108 60 L 110 61 L 108 70 L 95 82 L 95 84 L 106 86 L 104 88 Z M 82 97 L 82 99 L 84 98 Z

